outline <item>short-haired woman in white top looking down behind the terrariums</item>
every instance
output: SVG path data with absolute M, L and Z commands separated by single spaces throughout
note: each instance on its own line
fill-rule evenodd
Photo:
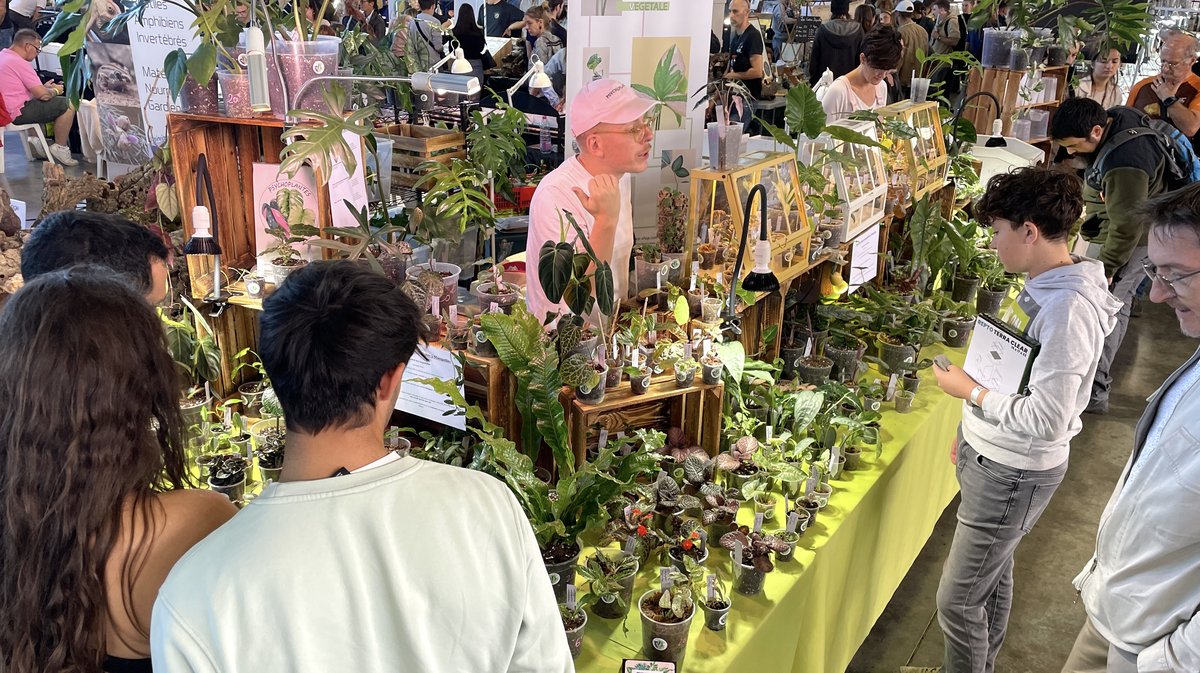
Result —
M 830 121 L 858 110 L 888 104 L 888 79 L 900 64 L 900 34 L 888 25 L 876 26 L 863 40 L 858 67 L 833 80 L 821 100 Z

